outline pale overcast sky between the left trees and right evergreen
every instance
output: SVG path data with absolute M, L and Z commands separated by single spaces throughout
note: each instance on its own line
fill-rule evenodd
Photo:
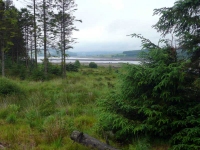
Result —
M 157 43 L 160 33 L 152 28 L 159 16 L 153 9 L 173 6 L 176 0 L 75 0 L 74 13 L 83 23 L 76 23 L 80 30 L 73 51 L 124 51 L 141 49 L 139 39 L 132 33 L 142 34 Z M 19 4 L 14 3 L 18 6 Z

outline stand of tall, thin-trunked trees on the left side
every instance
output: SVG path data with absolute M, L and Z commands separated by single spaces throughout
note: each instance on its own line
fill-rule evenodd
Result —
M 26 3 L 26 2 L 25 2 Z M 10 0 L 0 0 L 1 74 L 5 76 L 11 64 L 23 63 L 27 69 L 37 68 L 37 55 L 43 51 L 43 72 L 48 76 L 48 49 L 61 53 L 62 76 L 66 74 L 66 50 L 75 42 L 72 32 L 77 20 L 74 0 L 28 1 L 25 8 L 16 9 Z

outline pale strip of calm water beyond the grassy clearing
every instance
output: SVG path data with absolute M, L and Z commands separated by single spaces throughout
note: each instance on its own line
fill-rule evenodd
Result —
M 38 62 L 42 62 L 44 58 L 43 57 L 38 57 Z M 139 64 L 140 61 L 132 61 L 132 60 L 120 60 L 120 59 L 107 59 L 107 58 L 79 58 L 79 57 L 68 57 L 66 59 L 67 63 L 74 63 L 76 60 L 79 60 L 80 63 L 90 63 L 90 62 L 95 62 L 97 64 L 99 63 L 129 63 L 129 64 Z M 49 61 L 52 63 L 61 63 L 61 59 L 59 57 L 50 57 Z

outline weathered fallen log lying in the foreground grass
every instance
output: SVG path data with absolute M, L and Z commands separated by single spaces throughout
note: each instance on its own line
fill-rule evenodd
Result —
M 87 147 L 90 148 L 94 148 L 94 149 L 98 149 L 98 150 L 118 150 L 116 148 L 113 148 L 110 145 L 107 145 L 103 142 L 100 142 L 99 140 L 84 134 L 83 132 L 79 132 L 79 131 L 73 131 L 70 138 L 75 141 L 78 142 L 80 144 L 83 144 Z

